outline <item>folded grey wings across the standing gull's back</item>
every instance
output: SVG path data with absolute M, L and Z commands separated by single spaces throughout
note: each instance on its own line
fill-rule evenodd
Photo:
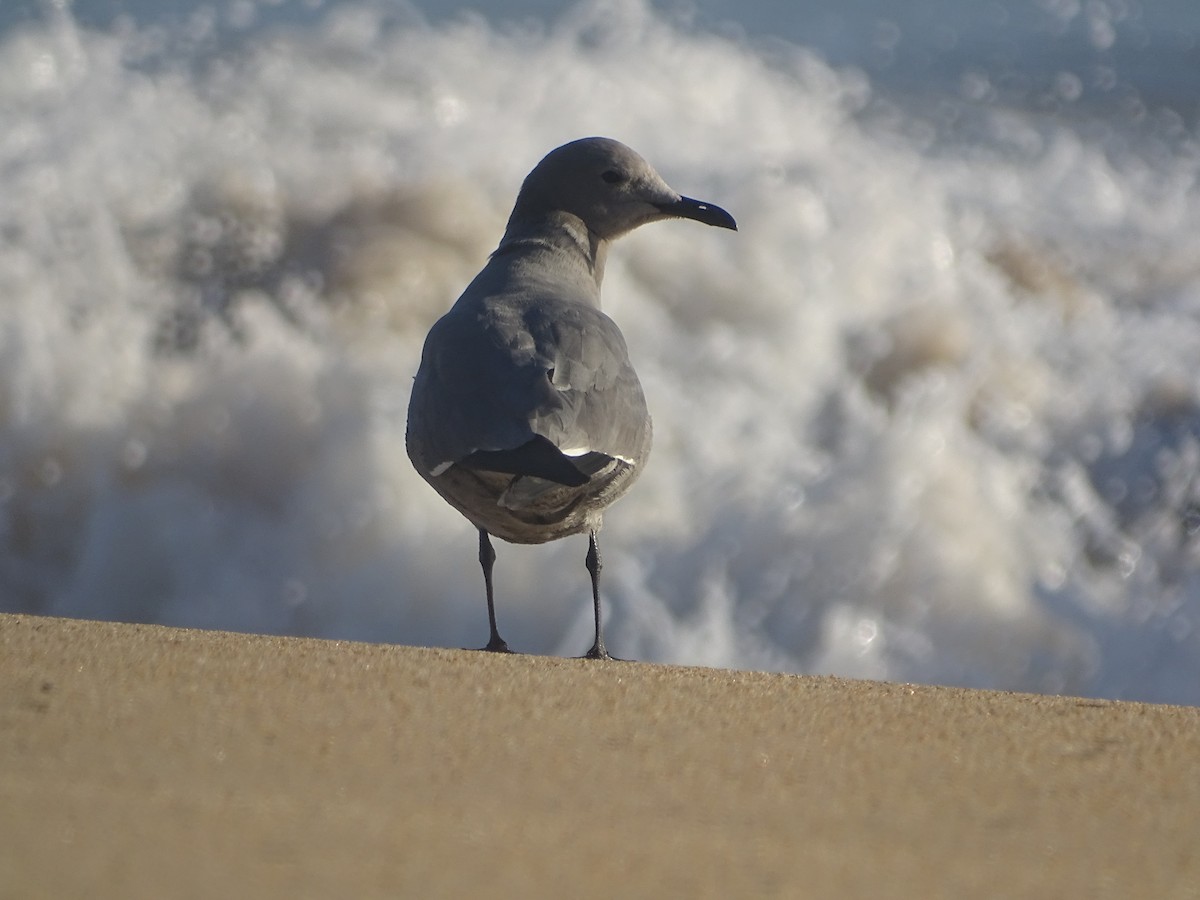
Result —
M 413 385 L 409 454 L 425 473 L 536 437 L 570 456 L 641 462 L 646 398 L 616 323 L 594 306 L 497 298 L 430 331 Z

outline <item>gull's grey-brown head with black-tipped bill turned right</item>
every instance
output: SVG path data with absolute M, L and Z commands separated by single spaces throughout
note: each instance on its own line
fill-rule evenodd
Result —
M 646 160 L 611 138 L 563 144 L 526 178 L 512 221 L 534 222 L 556 212 L 576 216 L 602 240 L 662 218 L 737 230 L 724 209 L 680 196 Z

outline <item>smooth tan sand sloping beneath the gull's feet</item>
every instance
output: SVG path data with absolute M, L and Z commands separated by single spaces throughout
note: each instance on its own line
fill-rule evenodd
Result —
M 0 896 L 1200 898 L 1200 709 L 0 616 Z

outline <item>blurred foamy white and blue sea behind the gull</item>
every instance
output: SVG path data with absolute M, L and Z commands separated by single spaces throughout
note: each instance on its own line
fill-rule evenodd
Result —
M 481 644 L 410 378 L 608 134 L 740 226 L 608 264 L 614 653 L 1200 703 L 1200 11 L 469 6 L 6 4 L 0 610 Z M 510 644 L 586 545 L 497 546 Z

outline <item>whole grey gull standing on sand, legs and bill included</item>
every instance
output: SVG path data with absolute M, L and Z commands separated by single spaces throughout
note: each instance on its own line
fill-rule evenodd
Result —
M 624 144 L 584 138 L 526 178 L 484 270 L 430 330 L 408 408 L 413 466 L 478 529 L 491 640 L 488 534 L 541 544 L 589 534 L 600 630 L 604 510 L 650 451 L 650 416 L 625 338 L 600 310 L 608 242 L 647 222 L 694 218 L 736 229 L 719 206 L 674 192 Z

